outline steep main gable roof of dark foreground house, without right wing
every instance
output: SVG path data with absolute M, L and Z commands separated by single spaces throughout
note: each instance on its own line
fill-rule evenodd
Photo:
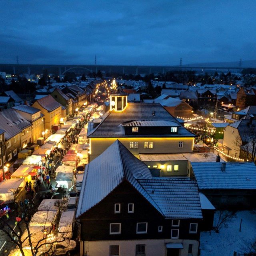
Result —
M 146 164 L 116 140 L 86 166 L 76 216 L 79 217 L 98 204 L 125 179 L 162 214 L 157 204 L 140 186 L 138 178 L 151 179 L 152 175 Z

